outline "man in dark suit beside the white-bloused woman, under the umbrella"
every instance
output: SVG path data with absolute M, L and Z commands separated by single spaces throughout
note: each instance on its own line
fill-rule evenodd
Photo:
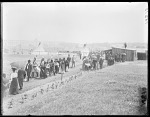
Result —
M 19 82 L 19 87 L 21 90 L 23 88 L 23 80 L 26 77 L 26 72 L 22 68 L 18 70 L 18 82 Z

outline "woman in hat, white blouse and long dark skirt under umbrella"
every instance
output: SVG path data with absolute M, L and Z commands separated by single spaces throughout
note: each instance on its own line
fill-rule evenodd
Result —
M 12 67 L 12 73 L 10 76 L 10 87 L 9 87 L 9 94 L 11 95 L 16 95 L 18 94 L 18 74 L 17 74 L 17 69 L 15 67 Z

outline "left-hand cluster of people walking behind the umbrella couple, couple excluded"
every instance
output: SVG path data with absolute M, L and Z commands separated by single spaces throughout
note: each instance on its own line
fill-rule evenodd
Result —
M 68 55 L 66 58 L 59 59 L 47 59 L 47 61 L 42 58 L 40 64 L 38 65 L 36 62 L 36 58 L 34 58 L 33 63 L 28 60 L 28 63 L 25 67 L 25 71 L 27 72 L 27 81 L 32 78 L 47 78 L 51 75 L 56 75 L 58 73 L 67 72 L 67 69 L 70 68 L 72 63 L 72 67 L 75 67 L 75 56 L 71 58 Z

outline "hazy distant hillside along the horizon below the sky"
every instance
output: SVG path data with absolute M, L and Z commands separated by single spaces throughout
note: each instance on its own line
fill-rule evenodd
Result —
M 34 41 L 3 41 L 3 48 L 4 50 L 13 52 L 13 51 L 21 51 L 24 50 L 26 52 L 33 51 L 37 48 L 39 42 Z M 66 42 L 50 42 L 50 41 L 43 41 L 42 42 L 43 48 L 47 52 L 58 52 L 58 51 L 80 51 L 83 45 L 78 43 L 66 43 Z M 90 50 L 106 50 L 110 49 L 111 47 L 124 47 L 124 43 L 92 43 L 87 44 L 87 47 Z M 127 48 L 133 49 L 147 49 L 148 44 L 146 43 L 127 43 Z

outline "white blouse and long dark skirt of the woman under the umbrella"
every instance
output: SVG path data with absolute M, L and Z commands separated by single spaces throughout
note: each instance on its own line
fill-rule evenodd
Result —
M 17 73 L 12 73 L 11 74 L 11 83 L 10 83 L 10 87 L 9 87 L 9 93 L 10 94 L 18 94 L 18 79 L 17 79 L 18 75 Z

